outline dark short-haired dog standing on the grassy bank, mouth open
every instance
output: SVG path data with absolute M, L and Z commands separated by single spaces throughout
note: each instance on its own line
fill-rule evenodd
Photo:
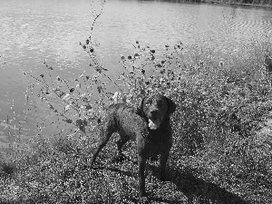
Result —
M 110 105 L 105 120 L 102 121 L 100 141 L 93 152 L 91 167 L 112 133 L 118 132 L 120 135 L 120 140 L 117 141 L 120 160 L 124 158 L 122 145 L 135 140 L 138 151 L 139 198 L 147 199 L 144 181 L 146 160 L 151 155 L 160 154 L 160 180 L 165 180 L 166 164 L 172 146 L 170 114 L 175 110 L 175 102 L 160 94 L 144 97 L 136 110 L 125 103 Z

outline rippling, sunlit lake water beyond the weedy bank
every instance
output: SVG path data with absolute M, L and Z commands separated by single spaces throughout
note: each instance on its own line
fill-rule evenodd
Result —
M 100 7 L 94 3 L 98 10 Z M 6 117 L 11 106 L 24 107 L 28 78 L 44 73 L 44 59 L 56 75 L 94 72 L 79 42 L 92 27 L 93 5 L 87 0 L 2 0 L 0 3 L 0 143 L 8 141 Z M 240 44 L 266 41 L 272 35 L 272 11 L 226 5 L 160 1 L 108 0 L 97 19 L 92 39 L 100 62 L 116 78 L 120 55 L 133 53 L 140 41 L 160 50 L 165 44 L 209 42 L 222 53 Z M 31 122 L 29 127 L 31 127 Z

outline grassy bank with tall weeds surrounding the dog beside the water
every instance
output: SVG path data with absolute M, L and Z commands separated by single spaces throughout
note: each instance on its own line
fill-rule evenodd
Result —
M 137 203 L 134 142 L 127 144 L 127 160 L 120 164 L 112 162 L 116 137 L 96 168 L 90 169 L 89 161 L 106 104 L 136 105 L 155 92 L 169 96 L 178 109 L 171 120 L 168 180 L 158 179 L 158 161 L 147 165 L 151 203 L 272 202 L 271 79 L 263 62 L 271 44 L 251 44 L 247 52 L 241 48 L 226 57 L 212 47 L 182 43 L 165 45 L 161 54 L 136 42 L 135 53 L 121 56 L 118 81 L 96 61 L 91 38 L 81 45 L 97 75 L 64 80 L 53 77 L 46 62 L 40 76 L 24 73 L 35 82 L 28 87 L 29 110 L 39 102 L 50 113 L 37 121 L 31 141 L 2 157 L 1 203 Z M 118 87 L 113 100 L 104 79 Z M 41 136 L 45 128 L 57 131 L 50 140 Z

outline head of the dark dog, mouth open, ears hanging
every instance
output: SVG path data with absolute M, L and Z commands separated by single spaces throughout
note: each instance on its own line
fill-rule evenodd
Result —
M 160 123 L 169 119 L 170 114 L 175 110 L 175 102 L 164 95 L 156 94 L 144 97 L 136 113 L 149 122 L 151 130 L 156 130 L 160 127 Z

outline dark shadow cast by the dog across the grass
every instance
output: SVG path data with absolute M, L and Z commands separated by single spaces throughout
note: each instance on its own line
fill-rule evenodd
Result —
M 120 164 L 113 164 L 111 167 L 97 167 L 94 170 L 109 170 L 120 174 L 121 176 L 130 177 L 137 180 L 137 160 L 131 160 L 135 169 L 131 170 L 121 170 Z M 160 178 L 160 164 L 155 164 L 150 160 L 147 162 L 146 170 L 151 170 L 152 175 Z M 180 203 L 180 200 L 184 200 L 181 203 L 200 203 L 200 204 L 250 204 L 250 202 L 241 199 L 235 193 L 229 192 L 226 189 L 219 187 L 219 185 L 212 182 L 208 182 L 197 178 L 193 174 L 193 170 L 189 169 L 178 169 L 170 168 L 169 170 L 169 180 L 170 182 L 162 182 L 160 186 L 161 194 L 157 191 L 158 189 L 147 189 L 149 195 L 150 203 Z M 156 181 L 153 181 L 156 182 Z M 146 180 L 147 183 L 147 180 Z M 160 181 L 159 181 L 160 183 Z M 174 189 L 168 189 L 168 185 L 171 183 L 175 186 Z M 153 183 L 154 184 L 154 183 Z M 154 184 L 157 186 L 157 184 Z M 137 189 L 138 191 L 138 189 Z M 160 194 L 160 196 L 159 196 Z M 167 196 L 168 194 L 172 194 Z M 157 196 L 158 195 L 158 196 Z M 127 199 L 134 203 L 137 203 L 138 198 L 132 198 L 128 196 Z

